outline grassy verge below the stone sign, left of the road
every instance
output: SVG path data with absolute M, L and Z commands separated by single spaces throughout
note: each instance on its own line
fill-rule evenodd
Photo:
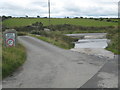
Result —
M 18 44 L 16 47 L 2 48 L 2 78 L 11 75 L 26 60 L 25 48 Z

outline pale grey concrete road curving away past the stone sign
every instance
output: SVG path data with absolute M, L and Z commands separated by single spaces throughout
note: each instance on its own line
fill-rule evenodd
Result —
M 107 62 L 106 58 L 64 50 L 30 36 L 19 37 L 27 60 L 3 80 L 3 88 L 79 88 Z

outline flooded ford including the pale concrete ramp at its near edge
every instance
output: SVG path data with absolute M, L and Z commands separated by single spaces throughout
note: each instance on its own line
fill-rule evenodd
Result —
M 110 42 L 110 40 L 106 38 L 106 33 L 82 33 L 69 36 L 73 37 L 73 35 L 77 38 L 80 35 L 84 35 L 84 38 L 75 42 L 75 47 L 71 50 L 99 57 L 114 57 L 112 52 L 105 49 Z

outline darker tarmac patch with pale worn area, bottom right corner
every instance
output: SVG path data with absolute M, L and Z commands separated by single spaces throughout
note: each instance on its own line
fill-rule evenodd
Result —
M 118 56 L 107 62 L 81 88 L 118 88 Z

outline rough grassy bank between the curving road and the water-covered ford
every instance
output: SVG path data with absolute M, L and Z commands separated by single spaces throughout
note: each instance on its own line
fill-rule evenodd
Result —
M 36 32 L 35 31 L 35 32 L 32 32 L 32 34 L 40 35 L 40 36 L 36 36 L 36 35 L 32 35 L 32 36 L 64 49 L 73 48 L 74 47 L 73 42 L 78 40 L 76 38 L 64 36 L 56 32 L 45 32 L 45 31 Z

